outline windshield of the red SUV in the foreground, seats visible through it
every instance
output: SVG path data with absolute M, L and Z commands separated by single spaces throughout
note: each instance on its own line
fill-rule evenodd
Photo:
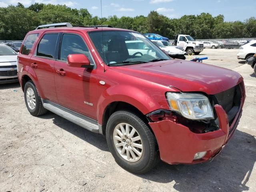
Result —
M 107 65 L 120 66 L 170 59 L 148 38 L 137 32 L 93 31 L 89 32 L 89 36 Z

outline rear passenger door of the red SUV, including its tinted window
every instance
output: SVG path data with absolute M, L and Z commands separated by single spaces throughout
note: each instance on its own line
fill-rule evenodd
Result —
M 54 83 L 54 62 L 58 36 L 59 32 L 42 34 L 30 59 L 30 67 L 36 74 L 37 82 L 42 92 L 41 97 L 52 102 L 58 101 Z

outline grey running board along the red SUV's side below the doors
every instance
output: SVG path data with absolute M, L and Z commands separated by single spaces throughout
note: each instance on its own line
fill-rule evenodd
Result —
M 83 127 L 86 128 L 89 131 L 96 132 L 96 133 L 102 133 L 100 128 L 101 126 L 98 125 L 98 122 L 92 118 L 89 118 L 87 116 L 84 116 L 82 114 L 79 114 L 77 112 L 74 112 L 68 108 L 62 107 L 54 102 L 51 102 L 49 100 L 42 99 L 43 106 L 47 110 Z

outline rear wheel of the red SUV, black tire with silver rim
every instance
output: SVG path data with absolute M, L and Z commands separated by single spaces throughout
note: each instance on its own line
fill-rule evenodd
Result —
M 24 86 L 24 98 L 31 115 L 39 116 L 47 112 L 47 109 L 43 107 L 38 90 L 32 81 L 26 82 Z

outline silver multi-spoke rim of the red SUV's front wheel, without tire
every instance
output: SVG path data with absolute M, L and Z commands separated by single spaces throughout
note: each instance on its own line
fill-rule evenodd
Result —
M 114 145 L 118 153 L 127 161 L 138 161 L 143 152 L 140 134 L 128 123 L 120 123 L 114 128 Z

